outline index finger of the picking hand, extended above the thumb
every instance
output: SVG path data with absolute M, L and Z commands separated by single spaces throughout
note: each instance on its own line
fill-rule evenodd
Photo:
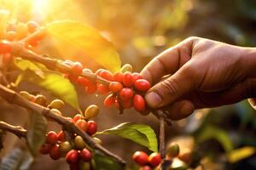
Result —
M 159 82 L 166 74 L 173 74 L 181 65 L 191 58 L 192 44 L 195 38 L 188 38 L 173 48 L 167 49 L 156 56 L 141 72 L 142 76 L 154 84 Z

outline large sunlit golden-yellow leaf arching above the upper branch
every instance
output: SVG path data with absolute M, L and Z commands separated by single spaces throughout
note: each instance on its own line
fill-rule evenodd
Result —
M 52 41 L 57 41 L 54 43 L 56 48 L 62 51 L 68 49 L 63 51 L 64 57 L 70 59 L 70 56 L 79 55 L 82 63 L 84 58 L 90 57 L 109 71 L 119 71 L 121 62 L 118 52 L 96 29 L 70 20 L 55 21 L 46 28 Z

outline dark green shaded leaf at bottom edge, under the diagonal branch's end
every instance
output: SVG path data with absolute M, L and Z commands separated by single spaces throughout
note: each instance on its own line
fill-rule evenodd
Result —
M 122 170 L 124 169 L 117 161 L 113 161 L 109 156 L 104 156 L 98 150 L 95 150 L 94 161 L 96 162 L 97 170 Z

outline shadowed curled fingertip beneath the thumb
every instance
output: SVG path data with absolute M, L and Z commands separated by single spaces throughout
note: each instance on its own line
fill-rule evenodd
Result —
M 195 111 L 195 106 L 189 100 L 182 100 L 168 106 L 167 111 L 169 112 L 168 117 L 177 121 L 191 115 Z

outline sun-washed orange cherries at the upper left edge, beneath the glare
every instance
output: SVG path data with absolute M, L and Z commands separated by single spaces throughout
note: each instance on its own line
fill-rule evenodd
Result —
M 3 63 L 8 64 L 12 61 L 11 55 L 12 46 L 11 42 L 20 41 L 29 36 L 35 31 L 38 31 L 40 26 L 37 22 L 29 20 L 26 23 L 22 22 L 9 22 L 3 34 L 3 39 L 0 41 L 0 54 L 3 54 Z M 26 42 L 26 48 L 32 49 L 38 45 L 45 36 L 45 31 L 38 31 L 38 34 Z

